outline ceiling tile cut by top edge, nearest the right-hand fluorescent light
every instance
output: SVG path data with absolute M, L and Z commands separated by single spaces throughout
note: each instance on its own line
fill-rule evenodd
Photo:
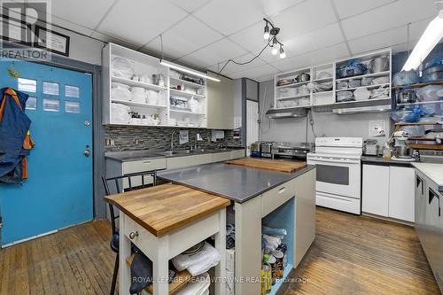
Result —
M 433 2 L 434 0 L 398 0 L 392 4 L 344 19 L 342 26 L 346 39 L 353 40 L 394 27 L 406 26 L 408 22 L 435 17 Z

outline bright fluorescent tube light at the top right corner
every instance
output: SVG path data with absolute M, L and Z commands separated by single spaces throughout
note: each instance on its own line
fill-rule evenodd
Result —
M 443 37 L 443 1 L 435 3 L 439 10 L 439 15 L 432 19 L 431 23 L 424 30 L 424 34 L 416 43 L 416 47 L 412 50 L 408 60 L 401 69 L 402 71 L 415 70 L 422 64 L 424 58 L 428 56 L 431 50 L 439 43 Z

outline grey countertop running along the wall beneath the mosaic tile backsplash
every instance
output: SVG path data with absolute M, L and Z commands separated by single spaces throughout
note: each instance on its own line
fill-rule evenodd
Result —
M 218 152 L 227 152 L 227 151 L 237 151 L 244 150 L 245 148 L 229 148 L 229 149 L 207 149 L 207 150 L 199 150 L 192 152 L 185 152 L 183 150 L 175 150 L 178 151 L 173 155 L 165 155 L 162 152 L 165 151 L 157 151 L 157 150 L 141 150 L 141 151 L 112 151 L 106 152 L 105 158 L 114 159 L 120 162 L 128 162 L 128 161 L 136 161 L 143 159 L 163 159 L 163 158 L 175 158 L 175 157 L 185 157 L 185 156 L 193 156 L 193 155 L 202 155 L 208 153 L 218 153 Z

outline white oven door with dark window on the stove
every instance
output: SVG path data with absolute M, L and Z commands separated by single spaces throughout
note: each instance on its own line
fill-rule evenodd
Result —
M 360 159 L 308 156 L 307 164 L 316 165 L 316 191 L 349 198 L 361 197 Z

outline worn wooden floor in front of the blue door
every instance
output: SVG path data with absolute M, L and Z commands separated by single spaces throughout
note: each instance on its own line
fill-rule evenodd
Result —
M 109 294 L 115 254 L 107 221 L 0 250 L 0 294 Z

